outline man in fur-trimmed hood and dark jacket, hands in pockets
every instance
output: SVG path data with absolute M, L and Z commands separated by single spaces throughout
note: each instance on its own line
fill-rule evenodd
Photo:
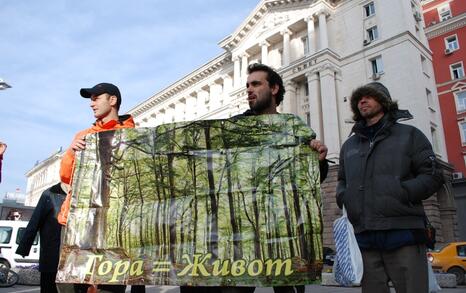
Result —
M 337 203 L 361 249 L 362 292 L 428 292 L 422 201 L 443 184 L 435 154 L 413 117 L 379 82 L 351 96 L 355 125 L 340 152 Z

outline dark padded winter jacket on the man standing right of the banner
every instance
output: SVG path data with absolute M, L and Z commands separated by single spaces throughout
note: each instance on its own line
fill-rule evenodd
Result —
M 337 203 L 345 205 L 356 233 L 425 227 L 422 200 L 442 186 L 443 176 L 425 135 L 396 122 L 411 118 L 401 110 L 385 115 L 373 141 L 358 122 L 342 146 Z

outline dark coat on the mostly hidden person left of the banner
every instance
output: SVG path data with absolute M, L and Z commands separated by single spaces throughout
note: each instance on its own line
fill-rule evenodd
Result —
M 56 184 L 42 193 L 16 250 L 19 255 L 29 255 L 34 238 L 39 231 L 39 271 L 43 273 L 57 271 L 61 225 L 57 222 L 56 214 L 60 210 L 65 196 L 66 193 L 61 189 L 60 184 Z

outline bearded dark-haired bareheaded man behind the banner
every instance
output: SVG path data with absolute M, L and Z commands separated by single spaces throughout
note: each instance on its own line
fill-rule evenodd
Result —
M 251 64 L 248 67 L 248 79 L 246 83 L 249 110 L 243 114 L 233 117 L 255 116 L 263 114 L 279 114 L 277 107 L 283 101 L 285 87 L 280 75 L 269 66 L 264 64 Z M 327 147 L 319 140 L 312 139 L 310 147 L 319 153 L 320 181 L 327 177 L 328 161 Z M 275 293 L 304 292 L 304 286 L 281 286 L 273 287 Z M 181 287 L 181 293 L 252 293 L 254 287 Z M 295 291 L 296 290 L 296 291 Z

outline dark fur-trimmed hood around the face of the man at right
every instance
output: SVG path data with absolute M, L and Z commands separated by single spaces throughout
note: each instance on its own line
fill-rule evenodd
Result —
M 374 98 L 378 103 L 380 103 L 380 105 L 382 105 L 384 113 L 398 110 L 398 103 L 392 101 L 392 97 L 390 96 L 388 89 L 380 82 L 370 82 L 355 89 L 351 94 L 351 110 L 353 111 L 353 119 L 355 121 L 362 120 L 358 109 L 358 103 L 362 97 Z

